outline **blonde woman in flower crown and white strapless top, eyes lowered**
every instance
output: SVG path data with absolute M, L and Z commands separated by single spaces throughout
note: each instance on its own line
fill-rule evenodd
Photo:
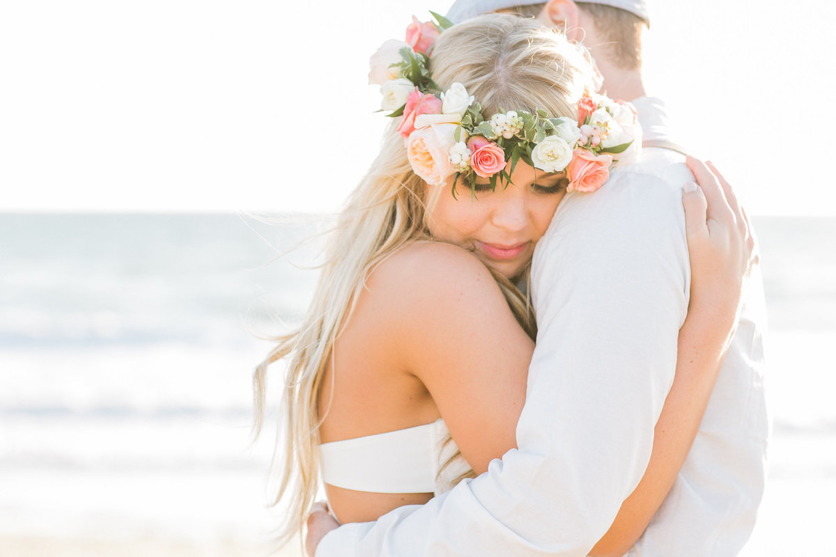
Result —
M 419 30 L 432 35 L 430 29 Z M 421 39 L 414 44 L 420 48 Z M 484 472 L 493 458 L 515 446 L 535 336 L 528 296 L 515 284 L 525 284 L 534 246 L 567 190 L 599 187 L 611 158 L 628 152 L 635 142 L 607 143 L 615 130 L 626 134 L 629 128 L 629 122 L 614 117 L 609 138 L 600 134 L 602 126 L 576 126 L 577 134 L 569 130 L 572 139 L 567 143 L 575 149 L 569 149 L 568 159 L 557 139 L 546 140 L 563 138 L 560 117 L 591 123 L 581 111 L 594 114 L 601 106 L 584 104 L 592 99 L 585 92 L 594 89 L 594 75 L 582 53 L 537 23 L 493 15 L 451 28 L 433 47 L 430 73 L 422 71 L 420 57 L 405 56 L 400 71 L 411 72 L 411 84 L 425 84 L 425 90 L 437 84 L 446 98 L 436 101 L 434 94 L 415 89 L 344 210 L 303 326 L 280 339 L 255 377 L 260 423 L 266 367 L 291 355 L 288 443 L 277 497 L 277 502 L 287 497 L 291 509 L 283 531 L 287 537 L 300 529 L 313 504 L 322 465 L 331 509 L 343 522 L 371 520 L 399 505 L 424 503 L 466 472 L 450 444 L 443 457 L 436 455 L 437 466 L 431 469 L 448 480 L 436 489 L 426 482 L 411 484 L 408 462 L 404 469 L 394 464 L 367 478 L 362 477 L 364 464 L 354 467 L 344 461 L 341 473 L 340 464 L 334 466 L 336 454 L 365 456 L 366 464 L 373 463 L 387 453 L 397 455 L 400 447 L 410 448 L 415 433 L 435 441 L 449 429 L 472 474 Z M 485 122 L 471 94 L 484 114 L 503 118 L 492 118 L 482 127 Z M 445 119 L 449 113 L 438 105 L 452 98 L 466 101 L 459 123 L 453 125 L 455 140 L 447 137 L 445 152 L 451 154 L 453 172 L 440 170 L 441 159 L 433 151 L 438 138 L 421 131 L 452 133 L 433 127 L 451 125 Z M 424 104 L 424 114 L 435 118 L 422 128 L 418 119 Z M 517 110 L 512 114 L 502 107 Z M 591 129 L 595 127 L 599 135 Z M 469 136 L 466 142 L 463 132 Z M 464 146 L 456 147 L 460 143 Z M 507 158 L 492 158 L 497 151 L 491 144 L 504 146 Z M 543 145 L 551 150 L 543 153 Z M 607 149 L 614 152 L 607 154 Z M 456 158 L 456 153 L 461 156 Z M 574 166 L 579 160 L 589 160 L 591 166 Z M 699 206 L 686 209 L 689 223 L 699 220 Z M 695 313 L 712 319 L 701 319 L 701 327 L 686 322 L 681 344 L 723 349 L 722 341 L 706 346 L 704 338 L 716 338 L 707 332 L 730 332 L 733 327 L 739 296 L 730 298 L 727 284 L 739 285 L 744 272 L 736 257 L 742 240 L 734 240 L 737 247 L 729 249 L 690 244 L 692 284 L 701 290 L 699 296 L 692 292 L 692 301 L 699 303 L 689 308 L 689 320 Z M 711 261 L 723 250 L 732 255 L 723 252 L 722 264 Z M 491 275 L 495 280 L 487 280 Z M 707 281 L 706 276 L 725 280 Z M 619 514 L 594 554 L 620 554 L 645 528 L 666 492 L 660 486 L 670 486 L 685 458 L 716 371 L 677 362 L 675 381 L 699 381 L 701 402 L 665 407 L 669 413 L 681 411 L 679 421 L 689 425 L 681 426 L 669 447 L 654 451 L 642 480 L 649 488 L 640 484 L 633 500 L 625 502 L 632 510 Z

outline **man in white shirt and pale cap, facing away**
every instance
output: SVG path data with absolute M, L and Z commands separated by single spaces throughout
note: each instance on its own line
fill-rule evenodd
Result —
M 671 420 L 660 409 L 688 303 L 679 190 L 692 177 L 667 136 L 664 105 L 645 97 L 645 2 L 459 0 L 448 17 L 499 10 L 536 14 L 588 45 L 602 90 L 634 102 L 645 149 L 639 162 L 614 171 L 618 187 L 568 195 L 538 245 L 532 288 L 540 332 L 518 449 L 423 507 L 334 530 L 318 557 L 585 555 L 645 472 L 654 427 L 664 435 Z M 703 180 L 707 169 L 689 165 Z M 746 543 L 765 483 L 763 322 L 756 269 L 691 452 L 628 554 L 715 557 Z M 314 542 L 324 528 L 315 518 Z

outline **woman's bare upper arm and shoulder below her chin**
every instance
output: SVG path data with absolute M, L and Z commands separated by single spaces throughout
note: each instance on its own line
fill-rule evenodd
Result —
M 534 342 L 476 256 L 441 243 L 403 255 L 375 271 L 398 285 L 397 311 L 409 317 L 387 327 L 392 353 L 426 386 L 473 470 L 485 472 L 516 446 Z

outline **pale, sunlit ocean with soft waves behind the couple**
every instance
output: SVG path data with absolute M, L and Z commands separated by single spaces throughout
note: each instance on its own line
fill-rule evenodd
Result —
M 265 554 L 278 511 L 273 433 L 250 434 L 271 346 L 256 335 L 304 311 L 318 221 L 0 215 L 0 554 Z M 826 553 L 836 218 L 754 222 L 774 414 L 757 554 Z

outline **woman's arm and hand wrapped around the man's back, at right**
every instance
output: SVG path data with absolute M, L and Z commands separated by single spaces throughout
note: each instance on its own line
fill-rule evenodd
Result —
M 699 160 L 689 158 L 687 164 L 701 190 L 683 195 L 691 301 L 680 330 L 675 380 L 656 423 L 645 476 L 590 551 L 600 557 L 617 557 L 630 549 L 674 484 L 732 340 L 742 282 L 757 257 L 747 218 L 728 182 L 713 166 L 712 173 Z

